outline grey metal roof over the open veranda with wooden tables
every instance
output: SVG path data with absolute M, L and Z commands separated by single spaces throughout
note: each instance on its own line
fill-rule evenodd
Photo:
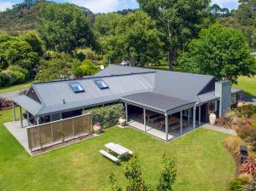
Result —
M 154 92 L 143 92 L 121 97 L 121 101 L 129 101 L 144 107 L 151 107 L 161 112 L 167 112 L 174 108 L 195 103 L 195 101 L 183 100 L 173 96 L 160 95 Z

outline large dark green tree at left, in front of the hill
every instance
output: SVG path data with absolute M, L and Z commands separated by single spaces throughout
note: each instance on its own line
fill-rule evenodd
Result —
M 71 53 L 79 47 L 96 45 L 87 18 L 72 4 L 46 4 L 39 22 L 38 32 L 47 49 Z

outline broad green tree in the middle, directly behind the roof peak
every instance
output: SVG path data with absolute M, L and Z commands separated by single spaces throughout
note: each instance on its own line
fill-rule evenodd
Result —
M 112 22 L 113 32 L 101 38 L 102 50 L 108 59 L 115 63 L 129 60 L 138 67 L 158 63 L 163 43 L 154 20 L 142 11 L 116 18 L 119 20 Z

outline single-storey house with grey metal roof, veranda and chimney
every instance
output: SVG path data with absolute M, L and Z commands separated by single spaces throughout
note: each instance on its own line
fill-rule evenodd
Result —
M 209 75 L 110 65 L 87 78 L 33 83 L 26 95 L 16 96 L 13 103 L 20 107 L 21 117 L 21 108 L 26 110 L 30 125 L 67 119 L 81 115 L 85 108 L 122 102 L 131 125 L 168 141 L 174 137 L 169 134 L 172 119 L 179 119 L 175 125 L 180 128 L 178 135 L 183 135 L 184 124 L 187 130 L 194 130 L 208 122 L 210 113 L 223 116 L 236 105 L 240 91 L 231 88 L 230 82 Z

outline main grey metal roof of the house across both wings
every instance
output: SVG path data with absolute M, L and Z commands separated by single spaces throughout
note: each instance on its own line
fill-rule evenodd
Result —
M 94 80 L 99 78 L 108 84 L 109 89 L 101 90 L 98 88 Z M 181 102 L 202 102 L 215 99 L 214 92 L 197 96 L 212 78 L 214 77 L 207 75 L 110 65 L 92 77 L 32 84 L 32 88 L 37 93 L 42 105 L 37 101 L 30 104 L 31 101 L 28 100 L 22 101 L 22 104 L 23 107 L 28 108 L 28 111 L 44 115 L 92 107 L 119 101 L 120 97 L 151 92 L 153 95 L 159 95 L 159 97 L 161 95 L 162 98 L 171 97 L 171 102 L 175 106 L 174 98 L 180 99 Z M 85 92 L 75 94 L 70 87 L 72 82 L 79 82 Z M 155 96 L 151 97 L 154 98 Z M 63 103 L 63 99 L 65 103 Z M 29 100 L 32 99 L 29 98 Z M 171 108 L 168 104 L 163 103 L 163 105 Z

